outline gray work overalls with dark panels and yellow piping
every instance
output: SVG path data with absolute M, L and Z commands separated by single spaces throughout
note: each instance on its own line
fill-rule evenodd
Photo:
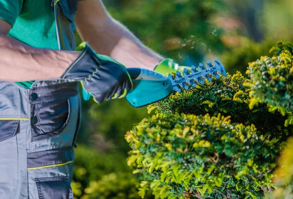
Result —
M 76 48 L 77 0 L 52 0 L 60 50 Z M 0 81 L 0 199 L 73 199 L 78 83 L 38 80 L 31 89 Z

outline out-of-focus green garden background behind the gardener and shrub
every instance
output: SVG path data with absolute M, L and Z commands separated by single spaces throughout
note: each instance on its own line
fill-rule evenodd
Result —
M 245 75 L 277 40 L 293 41 L 292 0 L 104 0 L 146 46 L 183 65 L 217 57 Z M 72 188 L 76 199 L 139 199 L 126 131 L 147 116 L 124 100 L 83 101 Z M 152 199 L 151 193 L 146 195 Z

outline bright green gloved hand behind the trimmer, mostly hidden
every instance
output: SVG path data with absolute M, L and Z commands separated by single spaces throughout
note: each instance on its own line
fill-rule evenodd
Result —
M 178 63 L 174 62 L 174 60 L 167 58 L 162 61 L 160 61 L 157 66 L 155 67 L 154 71 L 159 72 L 163 75 L 167 75 L 167 73 L 172 72 L 183 72 L 184 69 L 191 70 L 191 67 L 189 66 L 180 66 Z

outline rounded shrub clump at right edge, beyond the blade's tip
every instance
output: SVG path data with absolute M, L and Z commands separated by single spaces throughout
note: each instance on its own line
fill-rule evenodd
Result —
M 250 63 L 247 74 L 251 78 L 251 96 L 290 116 L 286 126 L 293 123 L 293 44 L 279 42 L 271 52 L 275 55 L 261 57 Z

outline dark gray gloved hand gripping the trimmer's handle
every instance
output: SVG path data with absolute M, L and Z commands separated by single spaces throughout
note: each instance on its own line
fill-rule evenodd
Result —
M 64 72 L 62 79 L 81 81 L 85 98 L 93 96 L 97 103 L 123 98 L 132 89 L 126 67 L 112 58 L 95 53 L 83 42 L 76 49 L 81 55 Z

